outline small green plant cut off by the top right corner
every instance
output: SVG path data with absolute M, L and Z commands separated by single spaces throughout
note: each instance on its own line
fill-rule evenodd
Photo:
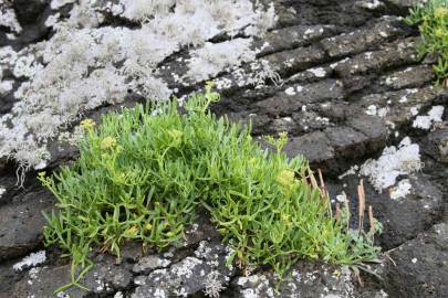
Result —
M 409 25 L 418 25 L 421 42 L 418 54 L 436 54 L 434 71 L 438 83 L 447 84 L 448 78 L 448 0 L 429 0 L 426 4 L 410 9 L 405 19 Z M 445 82 L 444 82 L 445 81 Z

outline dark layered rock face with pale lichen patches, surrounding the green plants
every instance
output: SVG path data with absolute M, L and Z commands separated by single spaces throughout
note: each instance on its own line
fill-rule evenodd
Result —
M 113 6 L 126 1 L 96 1 L 93 11 L 102 15 L 100 23 L 90 23 L 92 15 L 85 12 L 91 10 L 82 10 L 77 2 L 87 6 L 88 1 L 0 1 L 2 13 L 15 15 L 0 24 L 0 130 L 3 124 L 11 128 L 8 115 L 20 103 L 18 91 L 32 81 L 30 70 L 49 67 L 39 53 L 54 36 L 63 38 L 58 35 L 62 32 L 56 31 L 58 23 L 76 21 L 77 28 L 108 33 L 143 26 L 138 13 Z M 280 287 L 267 268 L 253 268 L 244 277 L 238 266 L 226 264 L 229 249 L 207 216 L 200 216 L 183 245 L 160 254 L 143 253 L 139 244 L 126 247 L 119 262 L 93 252 L 94 267 L 80 281 L 90 291 L 72 287 L 58 297 L 448 297 L 448 91 L 433 86 L 430 58 L 420 63 L 414 50 L 418 33 L 400 21 L 409 7 L 421 1 L 259 2 L 265 4 L 265 13 L 270 4 L 275 12 L 272 28 L 263 23 L 265 34 L 243 26 L 233 39 L 229 32 L 208 36 L 202 41 L 207 45 L 179 42 L 177 51 L 158 56 L 150 82 L 163 82 L 156 84 L 160 92 L 181 97 L 213 78 L 222 94 L 212 106 L 215 113 L 251 123 L 256 138 L 288 131 L 285 152 L 306 156 L 327 178 L 332 199 L 345 192 L 353 210 L 356 185 L 364 179 L 367 204 L 384 225 L 377 238 L 385 253 L 383 264 L 371 268 L 384 281 L 362 275 L 366 283 L 360 287 L 345 268 L 308 262 L 298 264 Z M 174 4 L 168 6 L 167 11 L 174 10 Z M 83 34 L 76 36 L 76 43 L 83 41 Z M 236 62 L 229 64 L 226 49 L 238 53 Z M 55 52 L 50 54 L 56 58 Z M 204 63 L 208 55 L 207 73 L 199 72 L 195 63 Z M 113 67 L 119 71 L 122 64 L 116 61 Z M 123 78 L 123 73 L 114 74 Z M 136 84 L 113 82 L 124 87 L 107 95 L 123 96 L 92 104 L 83 109 L 85 116 L 98 120 L 101 114 L 143 102 L 140 77 L 127 78 Z M 88 84 L 83 86 L 104 87 Z M 430 118 L 435 107 L 441 115 Z M 76 156 L 76 119 L 70 124 L 67 131 L 39 143 L 49 157 L 44 164 L 37 160 L 38 166 L 51 171 Z M 61 252 L 44 248 L 42 263 L 13 269 L 30 253 L 43 249 L 42 212 L 51 211 L 54 199 L 39 185 L 33 171 L 23 188 L 15 185 L 19 166 L 2 157 L 6 147 L 0 148 L 0 297 L 56 297 L 53 290 L 72 281 L 71 266 L 60 258 Z M 409 152 L 409 148 L 417 150 Z M 381 183 L 385 181 L 390 183 Z

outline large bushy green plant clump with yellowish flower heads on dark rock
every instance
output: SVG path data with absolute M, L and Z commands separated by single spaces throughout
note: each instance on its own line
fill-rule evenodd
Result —
M 171 100 L 105 115 L 97 129 L 84 123 L 80 158 L 40 177 L 58 198 L 46 245 L 87 267 L 93 248 L 119 256 L 127 241 L 159 249 L 180 242 L 202 209 L 241 266 L 270 265 L 281 276 L 299 258 L 375 260 L 373 235 L 350 231 L 348 209 L 332 216 L 308 161 L 281 152 L 285 134 L 267 138 L 275 152 L 261 149 L 250 127 L 208 111 L 218 99 L 208 85 L 185 113 Z

